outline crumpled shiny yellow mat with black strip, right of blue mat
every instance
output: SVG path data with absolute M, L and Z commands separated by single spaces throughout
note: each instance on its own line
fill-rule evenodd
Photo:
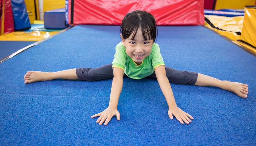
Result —
M 226 36 L 231 40 L 239 40 L 241 38 L 241 35 L 237 34 L 236 32 L 242 31 L 244 16 L 224 17 L 216 15 L 204 15 L 204 17 L 210 20 L 215 27 L 213 28 L 209 23 L 207 23 L 207 21 L 205 21 L 204 25 L 208 28 Z

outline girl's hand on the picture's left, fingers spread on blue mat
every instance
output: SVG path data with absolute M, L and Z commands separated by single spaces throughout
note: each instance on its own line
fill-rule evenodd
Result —
M 98 114 L 91 116 L 91 118 L 98 117 L 98 116 L 100 117 L 98 118 L 96 123 L 100 122 L 99 125 L 102 125 L 104 121 L 105 121 L 104 125 L 107 125 L 113 116 L 116 116 L 116 119 L 120 120 L 119 111 L 115 108 L 110 108 L 110 107 L 106 108 L 103 112 L 100 112 Z

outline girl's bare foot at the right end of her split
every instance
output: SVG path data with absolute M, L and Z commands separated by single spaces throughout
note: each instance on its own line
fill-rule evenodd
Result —
M 242 98 L 248 97 L 249 88 L 247 84 L 242 84 L 239 82 L 230 82 L 230 81 L 225 81 L 225 82 L 227 87 L 225 90 L 234 92 Z

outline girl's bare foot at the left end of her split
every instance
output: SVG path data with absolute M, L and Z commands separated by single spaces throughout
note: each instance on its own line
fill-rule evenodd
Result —
M 24 76 L 24 83 L 29 84 L 32 82 L 38 81 L 46 81 L 49 80 L 48 72 L 40 72 L 40 71 L 28 71 Z

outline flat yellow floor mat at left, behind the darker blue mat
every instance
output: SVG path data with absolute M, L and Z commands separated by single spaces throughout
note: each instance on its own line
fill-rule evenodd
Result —
M 40 41 L 59 31 L 45 32 L 45 31 L 32 31 L 23 32 L 16 31 L 8 34 L 0 35 L 0 41 Z

